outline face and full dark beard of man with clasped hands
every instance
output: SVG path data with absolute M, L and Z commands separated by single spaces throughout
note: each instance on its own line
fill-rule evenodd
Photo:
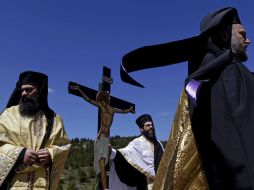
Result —
M 19 111 L 22 116 L 33 116 L 40 110 L 38 88 L 34 85 L 21 86 Z

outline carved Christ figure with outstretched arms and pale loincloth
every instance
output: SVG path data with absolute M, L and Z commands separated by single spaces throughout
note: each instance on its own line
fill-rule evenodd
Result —
M 108 92 L 98 91 L 96 100 L 93 100 L 82 91 L 78 84 L 70 85 L 70 90 L 79 91 L 81 96 L 89 103 L 100 109 L 100 129 L 94 146 L 94 168 L 96 172 L 100 172 L 102 188 L 107 189 L 107 174 L 105 166 L 108 162 L 109 155 L 109 135 L 110 127 L 113 122 L 115 113 L 134 113 L 133 106 L 128 109 L 119 109 L 112 107 L 110 104 L 110 96 Z

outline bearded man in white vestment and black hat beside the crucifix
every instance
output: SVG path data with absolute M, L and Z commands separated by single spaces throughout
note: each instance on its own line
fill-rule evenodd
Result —
M 154 123 L 149 114 L 138 117 L 136 123 L 141 135 L 126 147 L 111 150 L 111 190 L 152 189 L 164 148 L 156 138 Z

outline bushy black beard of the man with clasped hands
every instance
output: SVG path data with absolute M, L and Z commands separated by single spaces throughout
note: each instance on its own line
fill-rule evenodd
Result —
M 22 116 L 31 117 L 41 110 L 38 94 L 32 97 L 23 97 L 20 100 L 19 111 Z

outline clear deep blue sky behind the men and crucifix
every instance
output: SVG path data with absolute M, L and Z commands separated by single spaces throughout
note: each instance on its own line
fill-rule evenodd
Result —
M 131 73 L 145 88 L 120 80 L 122 56 L 138 47 L 197 35 L 203 16 L 215 9 L 239 10 L 254 40 L 253 0 L 3 0 L 0 1 L 0 106 L 5 108 L 20 72 L 49 76 L 49 104 L 70 138 L 94 139 L 97 108 L 68 94 L 68 81 L 98 89 L 102 67 L 111 68 L 111 94 L 136 104 L 136 114 L 116 114 L 111 135 L 138 135 L 135 119 L 152 115 L 157 136 L 167 140 L 187 64 Z M 254 69 L 254 47 L 247 67 Z

